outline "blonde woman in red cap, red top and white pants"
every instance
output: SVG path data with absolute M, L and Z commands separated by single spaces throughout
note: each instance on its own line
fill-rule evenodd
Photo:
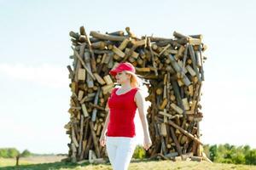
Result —
M 100 143 L 102 146 L 106 144 L 113 170 L 126 170 L 137 145 L 134 125 L 137 109 L 143 125 L 145 150 L 148 150 L 152 142 L 148 132 L 143 94 L 138 88 L 140 78 L 135 74 L 134 66 L 128 62 L 119 63 L 116 68 L 109 71 L 109 74 L 116 78 L 121 88 L 113 88 L 108 98 L 109 113 L 102 130 Z

